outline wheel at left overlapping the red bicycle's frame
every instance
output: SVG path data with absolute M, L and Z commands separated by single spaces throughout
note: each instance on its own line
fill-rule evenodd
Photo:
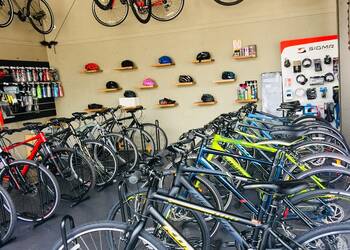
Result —
M 18 166 L 16 166 L 16 165 L 18 165 Z M 5 189 L 9 192 L 9 194 L 10 194 L 10 196 L 15 204 L 18 219 L 20 219 L 22 221 L 28 221 L 28 222 L 39 222 L 42 220 L 46 220 L 55 213 L 56 209 L 58 208 L 59 202 L 60 202 L 61 191 L 60 191 L 59 185 L 57 183 L 57 180 L 56 180 L 55 176 L 48 169 L 46 169 L 42 165 L 38 165 L 34 161 L 29 161 L 29 160 L 13 161 L 9 164 L 9 169 L 10 169 L 10 171 L 15 171 L 16 168 L 21 169 L 21 167 L 19 167 L 19 166 L 22 166 L 22 165 L 29 166 L 29 168 L 32 167 L 32 169 L 31 169 L 32 172 L 29 172 L 30 170 L 28 170 L 26 173 L 26 176 L 31 174 L 31 176 L 29 176 L 29 177 L 31 178 L 31 181 L 33 181 L 32 184 L 26 183 L 26 185 L 28 187 L 32 188 L 31 192 L 22 192 L 22 190 L 18 190 L 16 188 L 13 188 L 11 183 L 8 180 L 6 180 L 6 179 L 8 179 L 7 172 L 9 171 L 7 169 L 2 170 L 2 172 L 0 173 L 0 182 L 5 187 Z M 39 176 L 40 176 L 40 178 L 38 178 Z M 50 200 L 48 200 L 48 201 L 50 201 L 50 207 L 47 208 L 45 211 L 41 211 L 41 213 L 27 211 L 29 208 L 33 208 L 33 206 L 29 205 L 30 201 L 33 201 L 34 200 L 33 197 L 35 197 L 34 195 L 39 192 L 39 189 L 36 186 L 38 185 L 39 182 L 43 182 L 43 181 L 48 181 L 48 182 L 39 187 L 40 192 L 42 192 L 41 188 L 45 187 L 45 188 L 49 189 L 49 190 L 46 190 L 47 192 L 45 193 L 45 195 L 50 194 L 50 196 L 43 197 L 43 194 L 39 194 L 40 197 L 38 199 L 39 199 L 40 204 L 38 204 L 36 209 L 38 211 L 42 209 L 42 206 L 44 204 L 44 202 L 42 201 L 43 198 L 51 198 Z M 17 191 L 17 193 L 16 193 L 16 191 Z M 17 194 L 19 194 L 19 195 L 17 195 Z M 53 198 L 51 196 L 53 196 Z M 18 197 L 19 198 L 28 197 L 28 198 L 24 202 L 21 202 L 21 201 L 17 200 Z M 45 200 L 45 205 L 47 205 L 48 201 Z M 31 212 L 33 212 L 33 213 L 31 213 Z

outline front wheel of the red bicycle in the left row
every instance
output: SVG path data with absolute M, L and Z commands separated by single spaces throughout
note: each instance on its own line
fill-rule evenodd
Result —
M 95 187 L 95 169 L 89 160 L 77 150 L 53 149 L 43 158 L 43 165 L 57 178 L 62 198 L 72 201 L 87 196 Z

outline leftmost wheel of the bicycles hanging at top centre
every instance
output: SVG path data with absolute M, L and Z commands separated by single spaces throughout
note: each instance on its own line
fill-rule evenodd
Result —
M 115 27 L 126 19 L 129 13 L 129 5 L 126 0 L 117 0 L 110 8 L 101 8 L 100 1 L 92 2 L 92 14 L 97 22 L 106 27 Z

